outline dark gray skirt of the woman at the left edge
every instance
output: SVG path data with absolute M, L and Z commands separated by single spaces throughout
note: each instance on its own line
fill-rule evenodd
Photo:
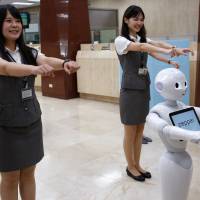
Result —
M 28 127 L 0 127 L 0 172 L 33 166 L 43 156 L 41 120 Z

